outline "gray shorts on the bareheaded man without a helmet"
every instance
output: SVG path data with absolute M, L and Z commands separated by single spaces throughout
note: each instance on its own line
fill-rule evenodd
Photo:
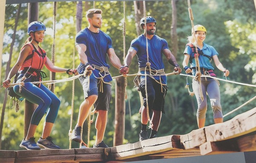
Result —
M 83 87 L 84 99 L 89 96 L 96 95 L 98 96 L 94 107 L 95 110 L 106 110 L 109 111 L 109 104 L 111 101 L 111 84 L 103 83 L 103 92 L 100 91 L 100 79 L 96 79 L 94 76 L 89 77 L 81 76 L 79 81 Z

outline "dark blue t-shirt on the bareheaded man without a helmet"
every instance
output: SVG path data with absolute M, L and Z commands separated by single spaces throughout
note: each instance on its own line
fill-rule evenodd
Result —
M 97 66 L 104 66 L 104 67 L 110 67 L 106 62 L 106 55 L 109 48 L 112 47 L 112 39 L 109 37 L 109 35 L 105 34 L 103 31 L 99 31 L 99 33 L 94 33 L 90 31 L 88 28 L 84 28 L 78 34 L 75 36 L 75 45 L 78 44 L 84 44 L 86 45 L 86 56 L 88 59 L 88 62 L 92 65 Z M 80 64 L 79 66 L 81 66 Z M 78 68 L 79 68 L 78 66 Z M 84 67 L 85 68 L 85 67 Z M 84 71 L 83 68 L 83 71 Z M 80 72 L 83 73 L 83 72 Z M 99 78 L 101 76 L 104 76 L 105 73 L 102 72 L 101 75 L 99 74 L 100 70 L 95 69 L 92 70 L 92 74 Z M 106 75 L 104 77 L 104 82 L 110 82 L 112 81 L 112 77 L 109 75 Z

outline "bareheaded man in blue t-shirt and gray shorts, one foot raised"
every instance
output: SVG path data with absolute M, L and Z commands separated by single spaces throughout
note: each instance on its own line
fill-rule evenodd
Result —
M 104 143 L 103 138 L 111 100 L 110 82 L 112 77 L 108 70 L 109 65 L 106 63 L 106 56 L 108 56 L 110 63 L 119 69 L 120 73 L 125 75 L 128 71 L 126 71 L 127 67 L 123 67 L 120 59 L 116 56 L 111 38 L 99 29 L 102 26 L 101 14 L 101 9 L 89 9 L 86 12 L 89 27 L 78 32 L 75 37 L 75 47 L 81 61 L 77 70 L 79 74 L 92 70 L 92 75 L 79 78 L 83 87 L 84 101 L 80 105 L 78 122 L 73 129 L 72 140 L 82 142 L 82 126 L 94 104 L 95 112 L 98 112 L 98 115 L 95 122 L 96 140 L 93 147 L 108 148 L 109 146 Z

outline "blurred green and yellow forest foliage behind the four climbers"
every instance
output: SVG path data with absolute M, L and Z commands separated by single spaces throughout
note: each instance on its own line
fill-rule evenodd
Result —
M 177 11 L 176 38 L 172 38 L 172 3 L 175 3 Z M 95 8 L 103 10 L 102 31 L 109 34 L 113 41 L 115 53 L 123 62 L 123 21 L 124 6 L 123 1 L 95 1 Z M 27 39 L 28 26 L 28 3 L 6 5 L 4 41 L 3 41 L 3 60 L 1 77 L 6 78 L 6 64 L 9 59 L 12 34 L 14 33 L 14 24 L 17 10 L 20 8 L 19 20 L 17 23 L 17 32 L 12 53 L 11 67 L 17 61 L 20 48 Z M 55 36 L 55 65 L 59 67 L 72 68 L 74 40 L 76 35 L 76 6 L 77 2 L 58 2 L 56 36 Z M 89 8 L 93 8 L 93 2 L 83 2 L 82 28 L 88 26 L 85 14 Z M 176 56 L 179 65 L 182 65 L 183 51 L 187 42 L 187 36 L 191 34 L 191 22 L 187 10 L 187 0 L 164 0 L 164 1 L 146 1 L 147 16 L 152 16 L 157 20 L 156 34 L 165 38 L 169 48 Z M 230 70 L 228 80 L 242 82 L 247 84 L 256 83 L 256 10 L 253 0 L 192 0 L 191 8 L 193 10 L 194 24 L 204 25 L 207 29 L 205 43 L 213 45 L 219 52 L 221 63 Z M 130 42 L 137 37 L 134 2 L 126 1 L 125 5 L 126 20 L 126 53 Z M 143 15 L 142 15 L 143 16 Z M 39 21 L 46 24 L 46 37 L 40 45 L 46 50 L 51 58 L 53 43 L 53 3 L 39 3 Z M 138 26 L 138 25 L 137 25 Z M 140 31 L 142 34 L 143 31 Z M 175 49 L 173 45 L 178 45 Z M 75 51 L 75 67 L 79 64 L 78 54 Z M 164 58 L 165 72 L 173 72 L 173 66 L 168 64 Z M 213 64 L 214 65 L 214 64 Z M 215 66 L 215 65 L 214 65 Z M 215 66 L 216 67 L 216 66 Z M 49 70 L 43 70 L 49 80 Z M 118 70 L 111 67 L 109 70 L 112 76 L 120 75 Z M 132 60 L 130 74 L 138 72 L 138 62 L 136 57 Z M 184 70 L 182 71 L 184 73 Z M 219 78 L 224 79 L 222 72 L 216 70 Z M 66 79 L 69 76 L 66 73 L 56 73 L 56 79 Z M 124 143 L 134 143 L 138 141 L 138 133 L 141 129 L 141 116 L 138 113 L 140 108 L 140 99 L 138 92 L 133 88 L 133 78 L 128 77 L 128 100 L 126 100 L 125 113 L 125 135 Z M 165 98 L 165 114 L 162 116 L 161 124 L 157 136 L 183 135 L 197 129 L 196 124 L 196 98 L 191 97 L 185 88 L 186 83 L 190 84 L 192 78 L 180 75 L 168 76 L 167 96 Z M 3 81 L 1 81 L 2 83 Z M 255 96 L 256 88 L 239 84 L 233 84 L 220 81 L 221 105 L 223 114 L 244 104 L 247 100 Z M 0 89 L 0 105 L 3 105 L 5 89 Z M 69 128 L 72 103 L 72 81 L 55 84 L 55 94 L 61 100 L 60 111 L 53 128 L 51 136 L 54 142 L 62 149 L 69 148 Z M 9 98 L 9 96 L 8 96 Z M 74 128 L 78 110 L 83 101 L 83 91 L 78 79 L 75 80 L 74 113 L 72 120 L 72 129 Z M 210 104 L 209 99 L 208 104 Z M 256 107 L 256 101 L 252 101 L 242 109 L 232 113 L 224 118 L 227 121 L 241 112 Z M 95 118 L 96 116 L 94 116 Z M 208 105 L 206 125 L 213 124 L 213 112 Z M 1 149 L 20 150 L 19 144 L 23 139 L 24 125 L 24 101 L 20 103 L 19 112 L 15 109 L 9 109 L 9 99 L 7 101 L 5 117 L 3 121 Z M 40 122 L 35 134 L 36 140 L 40 137 L 43 128 L 44 118 Z M 108 124 L 106 127 L 104 141 L 113 146 L 115 124 L 115 79 L 112 82 L 112 102 L 108 115 Z M 90 130 L 90 144 L 92 146 L 95 139 L 95 119 Z M 83 140 L 87 142 L 87 121 L 83 127 Z M 72 148 L 78 148 L 79 144 L 72 142 Z

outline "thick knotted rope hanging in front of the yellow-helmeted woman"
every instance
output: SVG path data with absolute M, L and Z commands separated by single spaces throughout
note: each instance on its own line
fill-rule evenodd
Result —
M 189 12 L 189 17 L 190 17 L 190 22 L 191 22 L 191 26 L 192 26 L 192 30 L 193 30 L 193 37 L 195 39 L 195 47 L 196 47 L 196 55 L 195 55 L 195 61 L 196 61 L 196 81 L 198 81 L 199 83 L 199 92 L 200 92 L 200 97 L 201 100 L 204 100 L 204 96 L 203 96 L 203 92 L 202 92 L 202 86 L 201 86 L 201 71 L 200 71 L 200 64 L 199 64 L 199 60 L 198 60 L 198 50 L 197 50 L 197 39 L 196 39 L 196 32 L 194 29 L 194 17 L 193 17 L 193 13 L 192 13 L 192 8 L 190 7 L 190 0 L 187 0 L 187 6 L 188 6 L 188 12 Z M 188 83 L 187 83 L 188 84 Z M 186 87 L 188 88 L 188 85 L 186 85 Z M 189 89 L 188 89 L 189 90 Z M 190 91 L 189 91 L 190 92 Z M 190 92 L 190 94 L 192 94 Z

